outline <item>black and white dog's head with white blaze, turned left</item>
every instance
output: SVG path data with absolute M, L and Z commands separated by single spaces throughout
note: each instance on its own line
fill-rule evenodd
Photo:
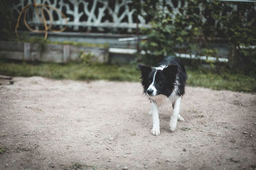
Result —
M 163 66 L 163 67 L 149 67 L 138 65 L 141 70 L 141 84 L 143 85 L 144 92 L 148 96 L 157 96 L 163 94 L 169 97 L 175 85 L 177 85 L 177 72 L 176 65 Z

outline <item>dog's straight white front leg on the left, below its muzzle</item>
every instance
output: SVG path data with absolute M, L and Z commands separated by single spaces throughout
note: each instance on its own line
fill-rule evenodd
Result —
M 160 125 L 159 125 L 159 111 L 158 106 L 154 101 L 151 101 L 151 113 L 152 113 L 152 121 L 153 121 L 153 128 L 151 130 L 151 133 L 154 135 L 160 134 Z

